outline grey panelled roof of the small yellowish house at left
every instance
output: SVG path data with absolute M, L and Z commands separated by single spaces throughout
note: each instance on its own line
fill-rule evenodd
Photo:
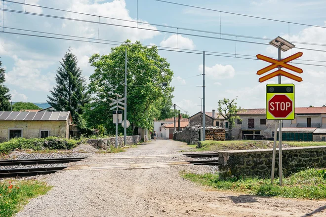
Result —
M 0 111 L 0 120 L 67 120 L 70 111 Z

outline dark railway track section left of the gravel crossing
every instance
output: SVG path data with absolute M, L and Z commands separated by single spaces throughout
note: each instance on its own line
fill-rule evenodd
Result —
M 70 162 L 80 161 L 83 159 L 85 159 L 85 157 L 0 160 L 0 166 L 70 163 Z M 45 175 L 45 174 L 55 173 L 65 168 L 67 167 L 35 167 L 35 168 L 4 169 L 4 170 L 0 170 L 0 178 Z

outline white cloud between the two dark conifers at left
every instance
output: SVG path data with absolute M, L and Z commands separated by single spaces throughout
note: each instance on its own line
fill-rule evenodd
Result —
M 11 71 L 5 73 L 6 83 L 18 86 L 22 89 L 48 91 L 52 89 L 54 73 L 41 73 L 54 62 L 22 60 L 13 56 L 15 61 Z

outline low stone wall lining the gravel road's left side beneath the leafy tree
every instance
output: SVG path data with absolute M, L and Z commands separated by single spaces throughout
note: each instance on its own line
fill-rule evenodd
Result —
M 118 146 L 122 147 L 124 142 L 123 137 L 118 137 Z M 141 136 L 135 135 L 135 136 L 127 136 L 126 138 L 126 145 L 132 145 L 137 144 L 141 142 Z M 103 138 L 103 139 L 88 139 L 87 143 L 92 145 L 93 147 L 100 148 L 100 149 L 108 149 L 111 146 L 116 145 L 116 138 L 110 137 L 110 138 Z

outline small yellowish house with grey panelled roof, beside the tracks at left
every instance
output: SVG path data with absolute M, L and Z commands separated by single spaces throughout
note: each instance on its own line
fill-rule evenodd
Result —
M 70 111 L 0 111 L 0 141 L 15 137 L 69 138 Z

